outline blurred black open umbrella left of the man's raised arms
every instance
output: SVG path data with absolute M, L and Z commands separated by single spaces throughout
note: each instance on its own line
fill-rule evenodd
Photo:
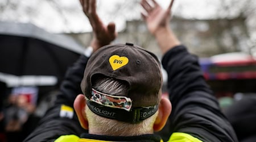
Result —
M 82 53 L 69 36 L 50 34 L 33 24 L 0 22 L 0 72 L 16 76 L 55 76 L 63 80 Z

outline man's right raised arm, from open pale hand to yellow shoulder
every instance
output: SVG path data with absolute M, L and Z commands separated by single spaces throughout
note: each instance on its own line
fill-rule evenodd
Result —
M 163 68 L 168 74 L 168 93 L 172 103 L 170 141 L 237 141 L 236 134 L 221 113 L 217 99 L 204 80 L 198 58 L 180 45 L 170 29 L 170 10 L 158 3 L 142 0 L 143 19 L 155 36 L 164 56 Z

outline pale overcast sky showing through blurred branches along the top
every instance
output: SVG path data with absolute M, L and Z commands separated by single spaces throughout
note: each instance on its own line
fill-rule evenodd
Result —
M 139 0 L 99 0 L 98 13 L 104 23 L 115 22 L 117 30 L 125 28 L 126 20 L 139 19 L 142 10 L 140 5 L 132 5 L 131 1 Z M 170 0 L 156 0 L 164 8 L 167 8 Z M 232 0 L 225 0 L 231 2 Z M 5 4 L 9 5 L 5 7 Z M 10 3 L 13 2 L 13 5 Z M 57 3 L 59 2 L 59 3 Z M 172 9 L 174 15 L 184 18 L 209 19 L 216 17 L 222 0 L 176 0 Z M 243 6 L 244 1 L 236 3 Z M 79 0 L 55 0 L 54 2 L 42 0 L 0 0 L 0 20 L 15 22 L 30 22 L 49 32 L 88 32 L 91 27 L 88 19 L 83 14 Z M 15 6 L 16 5 L 16 6 Z M 57 6 L 56 6 L 57 5 Z M 56 7 L 59 9 L 56 10 Z M 10 10 L 7 10 L 10 9 Z M 14 10 L 11 10 L 14 9 Z M 236 16 L 238 11 L 232 10 L 231 16 Z M 225 16 L 225 15 L 224 15 Z

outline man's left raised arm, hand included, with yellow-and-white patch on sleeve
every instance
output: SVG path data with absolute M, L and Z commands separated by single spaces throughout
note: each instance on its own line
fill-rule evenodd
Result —
M 108 26 L 102 24 L 96 13 L 96 1 L 80 1 L 85 15 L 93 27 L 93 39 L 90 43 L 92 52 L 100 47 L 110 44 L 115 37 L 115 24 Z M 80 126 L 73 102 L 81 94 L 80 83 L 84 76 L 84 69 L 89 56 L 81 55 L 80 58 L 67 70 L 65 79 L 61 83 L 60 93 L 57 95 L 55 105 L 40 120 L 39 126 L 24 141 L 54 141 L 61 135 L 80 135 L 84 131 Z

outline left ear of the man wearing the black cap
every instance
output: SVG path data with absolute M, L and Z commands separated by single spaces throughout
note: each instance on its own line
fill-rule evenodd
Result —
M 88 130 L 88 120 L 85 114 L 86 99 L 83 94 L 77 95 L 74 108 L 82 128 Z

